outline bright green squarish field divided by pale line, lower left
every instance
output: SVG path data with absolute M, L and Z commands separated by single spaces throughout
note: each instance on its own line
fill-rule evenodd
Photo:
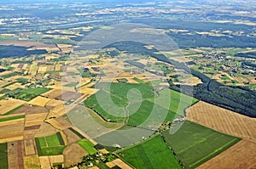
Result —
M 66 148 L 63 139 L 61 138 L 60 132 L 54 135 L 36 138 L 38 155 L 61 155 L 63 150 Z

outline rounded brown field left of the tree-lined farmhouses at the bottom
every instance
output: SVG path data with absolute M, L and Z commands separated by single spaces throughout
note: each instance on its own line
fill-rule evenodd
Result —
M 72 166 L 78 164 L 82 161 L 83 156 L 88 155 L 88 153 L 79 144 L 70 144 L 63 151 L 64 155 L 64 166 Z

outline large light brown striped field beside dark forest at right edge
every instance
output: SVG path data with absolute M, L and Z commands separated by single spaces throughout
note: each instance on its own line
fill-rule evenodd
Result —
M 219 132 L 256 141 L 256 119 L 216 105 L 200 101 L 187 110 L 187 119 Z

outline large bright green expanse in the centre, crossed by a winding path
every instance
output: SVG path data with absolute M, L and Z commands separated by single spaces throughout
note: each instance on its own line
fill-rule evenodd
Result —
M 137 89 L 143 100 L 136 100 L 139 96 L 131 89 Z M 133 93 L 135 98 L 135 100 L 131 100 L 131 103 L 127 99 L 127 93 L 129 92 Z M 119 106 L 119 110 L 115 110 L 112 104 L 105 101 L 109 100 L 109 95 L 113 103 Z M 102 103 L 99 104 L 97 99 L 103 100 Z M 171 102 L 170 106 L 169 103 L 166 104 L 166 100 Z M 146 121 L 149 115 L 161 116 L 161 118 L 154 118 L 160 120 L 160 122 L 172 121 L 176 112 L 179 115 L 184 115 L 184 110 L 195 102 L 197 102 L 197 99 L 167 88 L 160 91 L 157 97 L 154 97 L 153 87 L 148 84 L 112 83 L 110 91 L 102 89 L 86 99 L 84 104 L 102 115 L 106 121 L 123 122 L 125 120 L 127 124 L 138 126 Z M 114 112 L 115 114 L 108 112 Z M 124 115 L 126 118 L 123 117 Z M 129 119 L 127 115 L 129 115 Z

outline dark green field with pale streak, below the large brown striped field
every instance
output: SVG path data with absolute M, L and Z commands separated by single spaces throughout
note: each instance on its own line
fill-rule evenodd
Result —
M 241 140 L 191 121 L 185 121 L 173 135 L 169 131 L 162 134 L 187 168 L 200 166 Z

